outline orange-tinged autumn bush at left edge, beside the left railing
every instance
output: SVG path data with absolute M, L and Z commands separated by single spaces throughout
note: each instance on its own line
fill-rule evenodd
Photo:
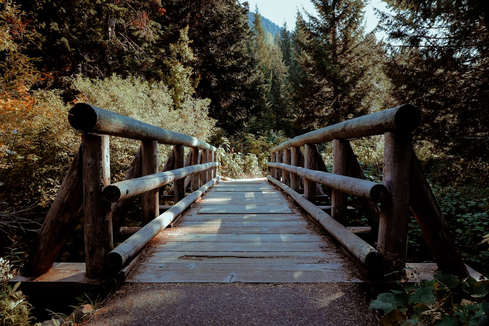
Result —
M 56 91 L 0 97 L 0 211 L 48 206 L 79 146 Z

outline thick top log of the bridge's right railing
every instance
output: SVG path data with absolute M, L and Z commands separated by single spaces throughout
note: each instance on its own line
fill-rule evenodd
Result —
M 292 146 L 321 144 L 333 139 L 359 138 L 396 131 L 411 132 L 419 127 L 420 122 L 421 113 L 419 109 L 411 104 L 403 104 L 393 109 L 363 115 L 296 136 L 275 146 L 270 151 L 273 153 L 289 149 Z

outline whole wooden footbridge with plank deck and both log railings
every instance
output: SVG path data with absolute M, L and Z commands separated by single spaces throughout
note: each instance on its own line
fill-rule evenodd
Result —
M 276 146 L 268 163 L 270 175 L 260 181 L 222 181 L 216 148 L 194 137 L 87 104 L 73 107 L 68 119 L 82 132 L 82 145 L 22 281 L 363 282 L 429 277 L 423 274 L 426 267 L 469 275 L 414 154 L 412 131 L 420 124 L 420 113 L 411 105 Z M 351 138 L 379 134 L 385 139 L 382 184 L 363 179 L 349 144 Z M 109 135 L 141 141 L 126 179 L 113 184 Z M 330 141 L 333 173 L 327 172 L 316 147 Z M 173 145 L 162 172 L 157 168 L 158 144 Z M 187 159 L 184 147 L 190 148 Z M 170 183 L 172 195 L 160 195 L 159 189 Z M 344 226 L 348 195 L 360 199 L 369 227 Z M 134 196 L 142 198 L 141 227 L 135 230 L 120 225 L 118 218 Z M 326 196 L 330 207 L 318 204 Z M 160 200 L 174 205 L 161 206 Z M 406 264 L 409 208 L 436 265 Z M 85 264 L 55 263 L 80 211 Z M 133 234 L 114 247 L 121 230 Z M 358 236 L 366 231 L 367 238 Z M 412 268 L 418 271 L 406 272 Z

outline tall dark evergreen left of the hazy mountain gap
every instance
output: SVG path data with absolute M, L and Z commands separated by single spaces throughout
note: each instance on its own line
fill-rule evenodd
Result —
M 209 98 L 209 115 L 229 134 L 250 127 L 262 111 L 261 71 L 252 55 L 248 7 L 232 0 L 163 0 L 166 14 L 158 19 L 165 30 L 161 43 L 176 42 L 178 30 L 189 26 L 200 79 L 196 94 Z M 164 47 L 163 44 L 163 47 Z

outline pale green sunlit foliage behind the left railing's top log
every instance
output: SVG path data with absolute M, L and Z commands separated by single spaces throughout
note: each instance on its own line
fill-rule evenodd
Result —
M 214 129 L 215 120 L 207 116 L 208 100 L 188 97 L 173 109 L 172 94 L 163 82 L 148 82 L 136 77 L 122 78 L 112 75 L 103 80 L 90 80 L 78 76 L 73 87 L 80 92 L 78 101 L 87 102 L 100 108 L 108 109 L 134 119 L 188 134 L 205 140 Z M 139 142 L 114 138 L 111 141 L 111 174 L 113 179 L 124 177 Z M 164 152 L 160 151 L 159 166 L 166 161 Z M 116 159 L 115 159 L 116 157 Z

